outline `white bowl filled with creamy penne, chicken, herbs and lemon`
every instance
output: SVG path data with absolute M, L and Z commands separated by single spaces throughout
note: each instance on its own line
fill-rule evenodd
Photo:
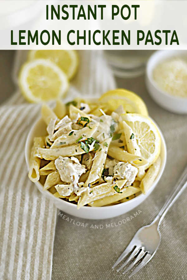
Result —
M 28 135 L 29 178 L 71 215 L 102 219 L 128 212 L 164 170 L 160 129 L 147 116 L 113 106 L 81 99 L 66 105 L 58 100 L 54 110 L 42 105 L 42 118 Z M 146 152 L 144 134 L 152 141 Z

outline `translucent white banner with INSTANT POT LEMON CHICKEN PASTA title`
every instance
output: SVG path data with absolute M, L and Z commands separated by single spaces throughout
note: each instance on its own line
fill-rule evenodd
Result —
M 0 49 L 186 49 L 186 0 L 0 1 Z

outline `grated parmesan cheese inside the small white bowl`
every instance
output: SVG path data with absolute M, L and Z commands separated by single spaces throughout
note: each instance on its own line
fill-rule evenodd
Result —
M 187 97 L 187 60 L 182 58 L 165 60 L 156 66 L 153 78 L 167 93 Z

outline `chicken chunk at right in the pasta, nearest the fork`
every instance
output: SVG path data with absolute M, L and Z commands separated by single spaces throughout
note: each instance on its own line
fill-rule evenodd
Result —
M 119 161 L 114 166 L 114 177 L 118 180 L 127 179 L 126 185 L 131 185 L 138 173 L 138 169 L 128 162 Z

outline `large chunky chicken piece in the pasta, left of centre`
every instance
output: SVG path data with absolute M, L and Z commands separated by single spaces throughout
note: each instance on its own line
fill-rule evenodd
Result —
M 55 160 L 55 166 L 60 174 L 60 179 L 65 183 L 72 183 L 75 188 L 80 175 L 86 172 L 85 166 L 81 165 L 74 156 L 71 158 L 59 156 Z

